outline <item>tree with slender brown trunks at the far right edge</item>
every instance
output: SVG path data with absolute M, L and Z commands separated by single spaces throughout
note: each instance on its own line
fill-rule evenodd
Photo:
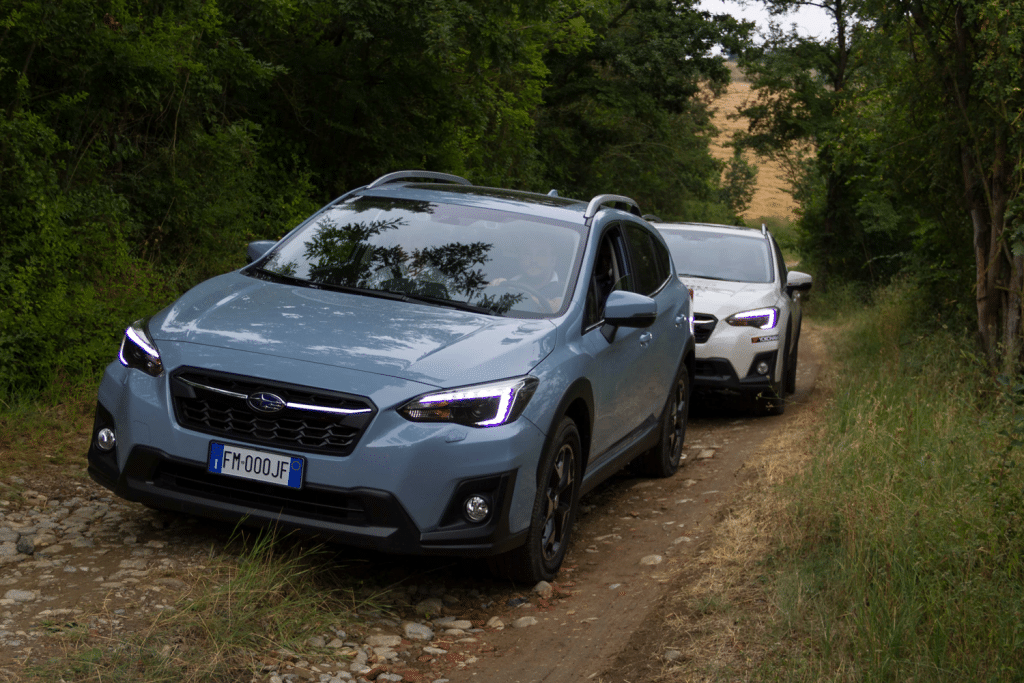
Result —
M 901 105 L 894 115 L 927 127 L 920 154 L 932 191 L 918 206 L 958 208 L 952 224 L 965 226 L 961 240 L 973 245 L 982 348 L 991 361 L 1016 368 L 1024 305 L 1024 2 L 870 3 L 864 11 L 894 48 L 884 96 Z

